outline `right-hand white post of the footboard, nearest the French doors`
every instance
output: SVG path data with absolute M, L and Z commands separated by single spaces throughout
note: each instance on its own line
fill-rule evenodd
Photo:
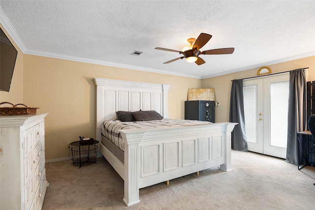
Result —
M 220 166 L 220 169 L 223 171 L 230 171 L 232 170 L 232 163 L 231 163 L 231 132 L 234 129 L 234 126 L 237 125 L 238 123 L 233 123 L 233 122 L 228 122 L 225 123 L 224 126 L 224 136 L 225 136 L 225 141 L 224 141 L 224 164 Z

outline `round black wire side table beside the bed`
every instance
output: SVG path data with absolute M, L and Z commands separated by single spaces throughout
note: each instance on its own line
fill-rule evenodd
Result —
M 71 142 L 72 164 L 75 166 L 90 165 L 96 163 L 96 151 L 99 141 L 93 143 L 81 144 L 80 141 Z

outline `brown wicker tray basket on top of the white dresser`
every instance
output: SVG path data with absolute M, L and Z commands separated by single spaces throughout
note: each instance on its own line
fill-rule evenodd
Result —
M 0 107 L 0 116 L 8 116 L 8 115 L 33 115 L 36 114 L 36 109 L 39 107 L 28 107 L 25 104 L 12 104 L 10 102 L 1 102 L 2 104 L 11 104 L 12 107 Z M 17 107 L 18 105 L 22 105 L 25 107 Z

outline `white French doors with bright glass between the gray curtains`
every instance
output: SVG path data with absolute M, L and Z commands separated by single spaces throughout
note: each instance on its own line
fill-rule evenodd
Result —
M 248 150 L 286 157 L 289 74 L 243 81 Z

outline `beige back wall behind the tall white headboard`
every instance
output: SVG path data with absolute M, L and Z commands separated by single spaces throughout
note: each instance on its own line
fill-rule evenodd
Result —
M 173 119 L 184 119 L 188 89 L 201 87 L 199 79 L 24 55 L 24 103 L 49 113 L 47 160 L 67 157 L 67 145 L 79 136 L 95 137 L 94 77 L 171 85 L 168 118 Z

